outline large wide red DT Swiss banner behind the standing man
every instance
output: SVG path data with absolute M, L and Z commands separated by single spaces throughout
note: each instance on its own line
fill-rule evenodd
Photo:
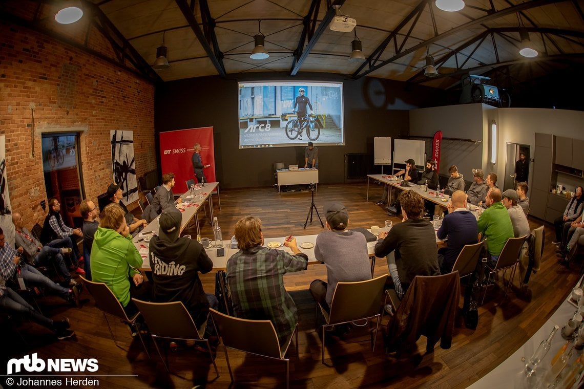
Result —
M 191 158 L 194 153 L 194 143 L 201 144 L 201 160 L 211 166 L 203 170 L 207 181 L 214 183 L 215 153 L 213 145 L 213 127 L 179 129 L 161 132 L 160 162 L 162 174 L 175 173 L 175 193 L 187 190 L 186 181 L 195 180 Z

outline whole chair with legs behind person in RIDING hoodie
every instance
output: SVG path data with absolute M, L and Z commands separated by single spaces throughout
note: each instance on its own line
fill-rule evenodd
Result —
M 215 373 L 219 377 L 219 370 L 215 365 L 213 352 L 208 339 L 204 338 L 205 329 L 207 328 L 207 320 L 199 328 L 194 324 L 193 318 L 182 302 L 170 303 L 149 303 L 138 299 L 132 299 L 138 310 L 142 313 L 142 317 L 148 326 L 148 331 L 152 337 L 152 342 L 164 363 L 166 372 L 170 373 L 168 369 L 168 347 L 165 346 L 165 357 L 162 358 L 162 353 L 158 347 L 157 339 L 179 339 L 184 341 L 204 342 L 207 345 L 207 350 L 215 367 Z M 172 318 L 172 320 L 169 320 Z

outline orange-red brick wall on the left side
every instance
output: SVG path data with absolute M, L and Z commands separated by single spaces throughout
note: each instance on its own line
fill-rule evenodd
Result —
M 137 176 L 156 169 L 151 82 L 25 27 L 0 23 L 0 36 L 0 134 L 12 209 L 27 227 L 44 217 L 43 132 L 81 133 L 81 181 L 94 201 L 112 182 L 110 130 L 134 132 Z M 89 34 L 89 45 L 102 42 Z

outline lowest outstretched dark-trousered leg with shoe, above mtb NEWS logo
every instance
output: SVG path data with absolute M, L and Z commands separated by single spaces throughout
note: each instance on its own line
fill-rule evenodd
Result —
M 51 320 L 41 315 L 29 303 L 26 302 L 18 293 L 4 285 L 4 276 L 0 276 L 0 310 L 22 315 L 27 319 L 40 324 L 43 327 L 55 332 L 57 339 L 69 339 L 75 335 L 75 332 L 68 330 L 69 319 Z

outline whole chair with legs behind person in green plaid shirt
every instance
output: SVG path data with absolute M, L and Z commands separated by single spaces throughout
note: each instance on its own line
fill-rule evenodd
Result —
M 296 335 L 296 355 L 298 356 L 298 324 L 294 326 L 286 343 L 280 346 L 276 328 L 270 320 L 241 319 L 227 316 L 212 308 L 209 311 L 221 343 L 223 343 L 231 383 L 234 383 L 235 380 L 227 353 L 228 348 L 286 362 L 286 388 L 290 386 L 290 359 L 285 358 L 285 356 L 294 335 Z

